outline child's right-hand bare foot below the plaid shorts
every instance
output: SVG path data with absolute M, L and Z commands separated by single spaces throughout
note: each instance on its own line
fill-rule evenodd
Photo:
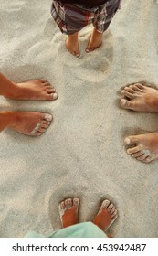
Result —
M 95 50 L 96 48 L 100 48 L 102 45 L 102 33 L 98 32 L 96 28 L 93 29 L 93 32 L 90 37 L 90 42 L 86 48 L 86 52 L 90 52 Z

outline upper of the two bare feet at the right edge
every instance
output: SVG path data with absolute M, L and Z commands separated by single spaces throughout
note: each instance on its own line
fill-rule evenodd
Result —
M 158 90 L 135 83 L 125 87 L 121 107 L 136 112 L 158 112 Z

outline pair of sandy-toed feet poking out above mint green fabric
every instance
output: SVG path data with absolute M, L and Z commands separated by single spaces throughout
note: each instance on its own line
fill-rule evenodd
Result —
M 68 198 L 58 205 L 62 228 L 79 223 L 79 198 Z M 92 220 L 102 231 L 108 229 L 117 218 L 117 209 L 109 200 L 104 200 Z

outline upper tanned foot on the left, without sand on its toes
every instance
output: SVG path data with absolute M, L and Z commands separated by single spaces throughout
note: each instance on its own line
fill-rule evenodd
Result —
M 58 99 L 55 88 L 47 80 L 28 80 L 14 84 L 5 92 L 6 98 L 28 101 L 53 101 Z

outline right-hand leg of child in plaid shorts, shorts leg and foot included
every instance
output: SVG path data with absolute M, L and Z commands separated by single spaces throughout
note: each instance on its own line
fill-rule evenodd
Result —
M 94 16 L 90 42 L 86 48 L 86 52 L 90 52 L 99 48 L 102 44 L 102 34 L 109 27 L 112 17 L 120 6 L 120 0 L 110 0 L 105 5 L 99 7 L 98 12 Z

